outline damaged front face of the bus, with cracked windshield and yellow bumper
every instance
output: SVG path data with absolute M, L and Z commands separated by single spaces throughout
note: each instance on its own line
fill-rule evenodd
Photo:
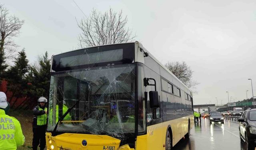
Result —
M 134 43 L 75 50 L 52 57 L 47 149 L 134 148 L 138 64 Z M 145 114 L 142 115 L 142 119 Z

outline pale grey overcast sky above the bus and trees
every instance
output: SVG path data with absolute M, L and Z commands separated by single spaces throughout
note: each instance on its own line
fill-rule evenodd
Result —
M 75 0 L 84 14 L 93 8 L 123 10 L 128 26 L 160 62 L 185 61 L 200 82 L 194 104 L 241 100 L 256 89 L 255 0 Z M 50 56 L 77 47 L 76 19 L 84 14 L 72 0 L 1 0 L 25 20 L 15 42 L 30 62 L 46 50 Z M 256 96 L 256 90 L 254 90 Z M 232 100 L 233 101 L 233 100 Z

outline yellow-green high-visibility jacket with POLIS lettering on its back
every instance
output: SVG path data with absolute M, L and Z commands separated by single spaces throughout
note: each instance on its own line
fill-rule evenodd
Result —
M 25 142 L 20 122 L 0 109 L 0 149 L 16 150 Z

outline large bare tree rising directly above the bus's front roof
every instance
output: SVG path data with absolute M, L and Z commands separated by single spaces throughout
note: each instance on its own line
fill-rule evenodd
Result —
M 78 36 L 79 46 L 83 48 L 134 40 L 136 35 L 130 28 L 126 28 L 127 21 L 127 16 L 122 16 L 122 10 L 119 13 L 112 8 L 104 13 L 92 10 L 89 17 L 77 22 L 82 30 Z

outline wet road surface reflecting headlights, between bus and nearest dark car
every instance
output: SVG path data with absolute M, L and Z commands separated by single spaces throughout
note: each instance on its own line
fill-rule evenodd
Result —
M 212 123 L 208 118 L 195 123 L 190 138 L 178 142 L 174 150 L 245 150 L 240 142 L 238 122 L 225 120 L 225 124 Z

